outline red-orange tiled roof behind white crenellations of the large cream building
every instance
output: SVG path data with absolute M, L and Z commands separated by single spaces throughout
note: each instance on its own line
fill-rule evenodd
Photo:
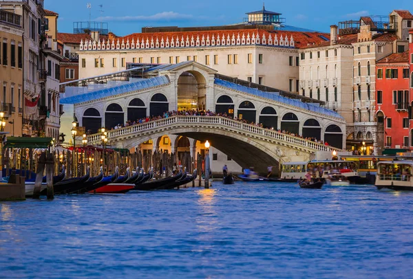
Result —
M 114 38 L 117 40 L 119 39 L 120 43 L 122 40 L 127 43 L 127 40 L 129 39 L 129 43 L 131 43 L 132 38 L 134 39 L 135 43 L 136 40 L 138 40 L 140 43 L 142 43 L 142 39 L 146 43 L 148 40 L 149 43 L 151 43 L 151 38 L 153 38 L 154 41 L 156 41 L 156 38 L 158 38 L 158 41 L 161 42 L 162 38 L 164 39 L 164 42 L 167 41 L 167 38 L 169 38 L 169 41 L 171 41 L 171 38 L 179 38 L 179 40 L 182 40 L 182 36 L 184 40 L 187 40 L 187 37 L 189 38 L 189 41 L 191 41 L 191 38 L 193 36 L 194 40 L 196 41 L 198 36 L 200 40 L 202 40 L 202 36 L 204 36 L 205 39 L 209 36 L 210 39 L 212 39 L 212 36 L 215 37 L 215 40 L 218 38 L 218 35 L 222 39 L 222 36 L 225 38 L 229 37 L 233 38 L 233 35 L 235 36 L 235 40 L 237 39 L 237 36 L 240 35 L 240 38 L 244 35 L 245 38 L 247 38 L 248 34 L 250 35 L 250 38 L 252 38 L 253 34 L 257 36 L 257 34 L 260 34 L 260 38 L 263 38 L 264 34 L 266 36 L 266 40 L 268 40 L 270 34 L 271 38 L 274 40 L 275 35 L 277 35 L 278 40 L 280 40 L 281 36 L 282 38 L 288 38 L 290 40 L 291 36 L 293 36 L 294 42 L 295 42 L 295 47 L 304 47 L 308 44 L 313 44 L 313 43 L 321 43 L 323 41 L 329 40 L 330 39 L 330 34 L 328 33 L 321 33 L 321 32 L 293 32 L 293 31 L 279 31 L 279 30 L 274 30 L 274 31 L 268 31 L 268 30 L 262 30 L 262 29 L 248 29 L 248 30 L 213 30 L 213 31 L 190 31 L 190 32 L 157 32 L 157 33 L 134 33 L 134 34 L 129 34 L 124 37 L 118 37 L 115 36 Z M 326 40 L 324 38 L 326 38 Z

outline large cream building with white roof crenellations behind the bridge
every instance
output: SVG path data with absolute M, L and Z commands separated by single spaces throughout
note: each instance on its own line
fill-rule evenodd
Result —
M 125 37 L 109 33 L 107 40 L 82 41 L 79 78 L 122 71 L 127 63 L 193 60 L 226 76 L 298 92 L 297 49 L 328 41 L 329 34 L 279 29 L 279 21 L 279 14 L 263 9 L 248 13 L 246 23 L 235 25 L 143 28 L 144 32 Z

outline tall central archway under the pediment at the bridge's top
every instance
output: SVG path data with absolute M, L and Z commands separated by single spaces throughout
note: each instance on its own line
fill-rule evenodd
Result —
M 184 71 L 178 78 L 178 111 L 206 109 L 207 80 L 199 71 Z

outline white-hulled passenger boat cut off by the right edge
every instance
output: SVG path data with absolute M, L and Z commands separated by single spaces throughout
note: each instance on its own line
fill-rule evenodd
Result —
M 381 161 L 377 164 L 375 186 L 381 190 L 413 191 L 413 161 Z

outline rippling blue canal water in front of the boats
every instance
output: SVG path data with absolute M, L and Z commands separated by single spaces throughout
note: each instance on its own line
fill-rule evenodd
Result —
M 412 278 L 413 192 L 294 183 L 0 203 L 1 278 Z

